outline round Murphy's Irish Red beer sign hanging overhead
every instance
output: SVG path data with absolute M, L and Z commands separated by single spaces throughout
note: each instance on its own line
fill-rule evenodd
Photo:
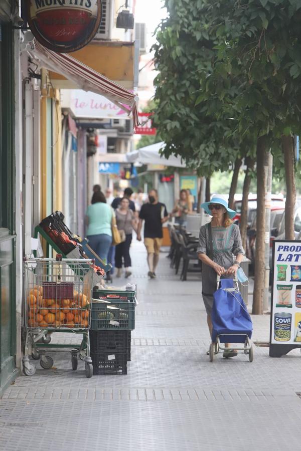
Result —
M 97 33 L 101 0 L 27 0 L 27 20 L 36 39 L 54 52 L 74 52 Z

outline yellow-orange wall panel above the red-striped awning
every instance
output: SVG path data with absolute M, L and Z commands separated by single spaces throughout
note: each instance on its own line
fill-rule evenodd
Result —
M 133 43 L 93 42 L 70 55 L 110 80 L 133 82 Z M 51 71 L 49 76 L 52 80 L 66 80 L 63 75 Z

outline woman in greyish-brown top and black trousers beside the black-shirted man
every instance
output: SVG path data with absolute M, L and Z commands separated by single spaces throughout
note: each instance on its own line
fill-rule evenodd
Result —
M 129 208 L 129 199 L 127 197 L 123 197 L 121 199 L 120 205 L 115 211 L 115 214 L 118 230 L 122 230 L 125 233 L 125 241 L 117 245 L 115 250 L 115 267 L 117 268 L 116 277 L 121 276 L 123 260 L 125 277 L 127 278 L 131 275 L 131 259 L 129 255 L 129 248 L 132 241 L 132 231 L 134 229 L 134 231 L 137 232 L 134 213 Z

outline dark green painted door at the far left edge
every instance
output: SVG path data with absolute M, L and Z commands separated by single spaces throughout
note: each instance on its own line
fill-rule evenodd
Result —
M 0 33 L 0 393 L 16 356 L 14 49 L 10 24 Z

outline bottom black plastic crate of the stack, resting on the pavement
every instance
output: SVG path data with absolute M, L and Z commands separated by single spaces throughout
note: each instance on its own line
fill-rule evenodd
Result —
M 93 374 L 127 374 L 126 352 L 91 352 Z

